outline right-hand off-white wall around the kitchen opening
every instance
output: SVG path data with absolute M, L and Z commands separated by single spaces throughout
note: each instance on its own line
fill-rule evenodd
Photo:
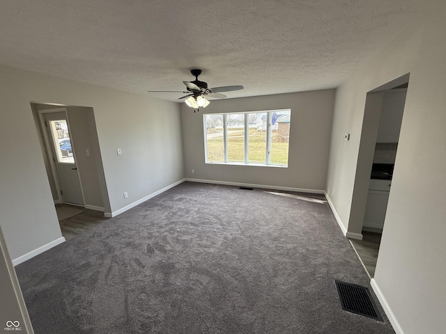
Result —
M 337 90 L 326 188 L 344 226 L 356 228 L 350 213 L 366 94 L 410 72 L 374 277 L 394 325 L 406 334 L 446 328 L 446 6 L 434 2 L 429 15 L 378 49 Z M 351 141 L 342 140 L 345 132 Z

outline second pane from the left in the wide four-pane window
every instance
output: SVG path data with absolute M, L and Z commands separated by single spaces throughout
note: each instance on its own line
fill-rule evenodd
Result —
M 226 119 L 228 162 L 245 162 L 245 115 L 235 113 Z

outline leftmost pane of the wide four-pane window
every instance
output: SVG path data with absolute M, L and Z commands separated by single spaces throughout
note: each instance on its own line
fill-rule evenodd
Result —
M 206 162 L 224 162 L 223 115 L 206 115 Z

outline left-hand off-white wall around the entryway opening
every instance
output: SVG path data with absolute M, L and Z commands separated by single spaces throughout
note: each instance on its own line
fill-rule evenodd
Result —
M 111 212 L 183 179 L 174 102 L 3 65 L 0 101 L 0 224 L 13 259 L 61 238 L 30 102 L 93 108 Z

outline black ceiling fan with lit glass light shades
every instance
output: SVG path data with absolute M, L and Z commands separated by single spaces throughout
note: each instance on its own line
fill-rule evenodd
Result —
M 213 97 L 215 99 L 224 99 L 226 95 L 220 94 L 221 92 L 229 92 L 232 90 L 243 89 L 243 86 L 223 86 L 208 88 L 208 84 L 204 81 L 199 81 L 198 77 L 201 74 L 201 70 L 194 69 L 190 70 L 190 73 L 195 77 L 194 81 L 183 81 L 186 85 L 185 91 L 177 90 L 148 90 L 148 93 L 187 93 L 180 97 L 178 100 L 185 100 L 187 106 L 194 109 L 199 109 L 199 107 L 206 108 L 209 105 L 209 101 L 206 97 Z

